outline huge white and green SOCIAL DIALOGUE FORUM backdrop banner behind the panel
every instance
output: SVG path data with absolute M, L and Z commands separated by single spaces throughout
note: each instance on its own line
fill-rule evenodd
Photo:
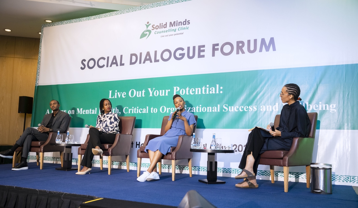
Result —
M 59 100 L 72 117 L 70 133 L 84 142 L 84 125 L 95 125 L 99 101 L 109 98 L 113 112 L 136 116 L 136 169 L 145 135 L 160 132 L 174 110 L 172 96 L 180 94 L 199 117 L 204 144 L 216 133 L 233 145 L 235 153 L 217 156 L 218 175 L 233 177 L 247 130 L 273 122 L 282 86 L 296 83 L 300 104 L 318 113 L 313 162 L 332 164 L 333 183 L 357 185 L 357 11 L 353 0 L 176 0 L 45 24 L 32 126 L 51 112 L 50 100 Z M 124 161 L 113 158 L 118 167 Z M 149 160 L 142 162 L 145 170 Z M 164 161 L 164 171 L 170 164 Z M 206 174 L 206 164 L 205 153 L 193 154 L 194 173 Z M 188 173 L 187 161 L 176 169 Z M 275 171 L 282 179 L 282 168 Z M 258 177 L 269 175 L 260 165 Z M 304 167 L 290 168 L 290 181 L 305 178 Z

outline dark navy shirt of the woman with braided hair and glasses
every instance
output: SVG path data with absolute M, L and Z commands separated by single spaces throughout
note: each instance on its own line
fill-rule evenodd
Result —
M 311 122 L 306 109 L 300 102 L 282 107 L 280 124 L 276 129 L 281 131 L 281 138 L 308 137 Z

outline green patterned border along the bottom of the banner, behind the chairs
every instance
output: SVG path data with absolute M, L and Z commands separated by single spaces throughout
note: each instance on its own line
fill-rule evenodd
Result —
M 30 160 L 36 161 L 36 156 L 28 156 L 27 162 Z M 51 162 L 60 162 L 61 159 L 59 157 L 45 157 L 44 161 L 51 161 Z M 77 158 L 72 158 L 73 163 L 77 163 Z M 92 160 L 92 164 L 100 164 L 100 160 Z M 103 160 L 103 164 L 108 165 L 108 161 Z M 112 161 L 112 165 L 115 166 L 127 166 L 126 162 L 117 162 Z M 130 162 L 130 167 L 137 167 L 136 162 Z M 149 168 L 149 163 L 142 163 L 142 168 Z M 158 164 L 157 164 L 158 167 Z M 171 165 L 162 164 L 162 169 L 171 169 Z M 175 166 L 176 170 L 184 170 L 188 171 L 189 166 Z M 193 171 L 202 171 L 206 172 L 207 167 L 198 167 L 198 166 L 192 166 Z M 233 168 L 218 168 L 218 173 L 231 173 L 231 174 L 239 174 L 241 172 L 241 169 L 233 169 Z M 270 171 L 257 171 L 257 176 L 270 176 Z M 284 172 L 282 171 L 275 171 L 275 177 L 283 178 Z M 306 179 L 306 173 L 296 173 L 296 172 L 289 172 L 289 178 L 299 178 L 299 179 Z M 358 183 L 358 177 L 357 176 L 341 176 L 341 175 L 332 175 L 332 181 L 335 182 L 345 182 L 345 183 Z

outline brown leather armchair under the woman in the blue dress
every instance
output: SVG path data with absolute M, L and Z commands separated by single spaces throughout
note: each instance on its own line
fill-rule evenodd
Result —
M 198 116 L 194 116 L 195 121 L 198 121 Z M 140 168 L 142 163 L 142 158 L 149 158 L 149 154 L 145 152 L 145 147 L 147 146 L 148 142 L 151 139 L 154 139 L 156 137 L 163 136 L 165 134 L 165 126 L 168 123 L 169 116 L 164 116 L 163 122 L 161 123 L 161 130 L 160 135 L 146 135 L 145 141 L 143 145 L 138 149 L 137 151 L 137 177 L 140 176 Z M 193 133 L 195 133 L 197 129 L 197 125 L 194 126 Z M 193 137 L 187 136 L 187 135 L 180 135 L 178 139 L 178 144 L 176 147 L 171 147 L 170 152 L 168 152 L 166 155 L 163 155 L 161 159 L 169 159 L 171 160 L 171 180 L 175 181 L 175 161 L 178 159 L 188 159 L 189 163 L 189 176 L 192 177 L 192 158 L 193 158 L 193 152 L 190 152 L 191 143 L 192 143 Z M 158 162 L 159 166 L 159 174 L 161 174 L 161 162 Z

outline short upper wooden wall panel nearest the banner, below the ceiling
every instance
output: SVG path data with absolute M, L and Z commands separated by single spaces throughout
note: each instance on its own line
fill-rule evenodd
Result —
M 16 37 L 15 58 L 37 59 L 39 56 L 40 39 Z

